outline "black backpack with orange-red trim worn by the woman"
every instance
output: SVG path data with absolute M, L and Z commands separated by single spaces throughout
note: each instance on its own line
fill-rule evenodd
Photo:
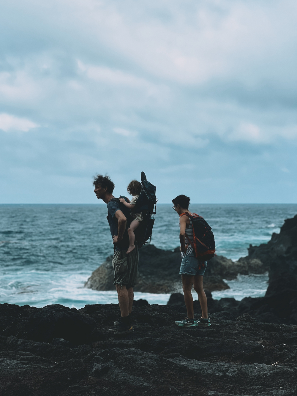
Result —
M 213 236 L 210 225 L 204 218 L 196 213 L 194 215 L 192 216 L 188 212 L 181 214 L 181 216 L 188 216 L 192 220 L 194 243 L 190 241 L 186 233 L 185 237 L 194 249 L 196 258 L 201 261 L 207 261 L 215 255 L 215 237 Z

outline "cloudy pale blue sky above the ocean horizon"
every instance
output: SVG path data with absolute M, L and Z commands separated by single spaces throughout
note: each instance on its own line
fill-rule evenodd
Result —
M 0 5 L 0 203 L 297 196 L 296 0 Z

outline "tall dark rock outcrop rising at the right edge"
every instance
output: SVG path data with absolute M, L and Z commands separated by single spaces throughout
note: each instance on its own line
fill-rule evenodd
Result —
M 297 215 L 285 220 L 267 244 L 248 250 L 247 259 L 269 267 L 269 284 L 265 297 L 246 301 L 242 312 L 265 322 L 297 324 Z

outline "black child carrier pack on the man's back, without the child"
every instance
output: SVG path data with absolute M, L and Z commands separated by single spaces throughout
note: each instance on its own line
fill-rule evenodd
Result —
M 141 184 L 143 190 L 137 198 L 136 204 L 132 211 L 134 213 L 142 212 L 143 221 L 135 230 L 135 239 L 137 240 L 138 247 L 145 245 L 152 238 L 152 227 L 154 226 L 154 215 L 156 214 L 156 186 L 147 181 L 144 172 L 141 172 Z

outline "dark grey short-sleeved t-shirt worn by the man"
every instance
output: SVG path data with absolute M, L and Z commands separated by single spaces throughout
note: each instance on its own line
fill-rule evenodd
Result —
M 124 204 L 121 204 L 118 198 L 114 197 L 114 198 L 111 198 L 111 200 L 107 204 L 107 210 L 108 210 L 107 220 L 109 223 L 110 234 L 112 237 L 114 235 L 118 235 L 118 219 L 115 216 L 116 211 L 121 210 L 124 213 L 124 216 L 126 216 L 126 219 L 127 219 L 126 230 L 124 232 L 123 239 L 116 245 L 116 250 L 128 249 L 129 236 L 128 236 L 127 230 L 131 223 L 129 209 Z

